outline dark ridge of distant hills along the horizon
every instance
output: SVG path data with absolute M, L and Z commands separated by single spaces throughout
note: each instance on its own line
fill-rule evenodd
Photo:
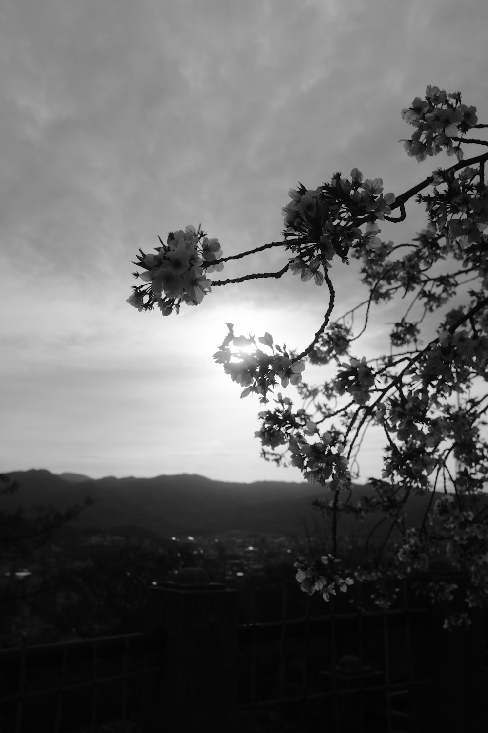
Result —
M 323 525 L 320 514 L 312 509 L 315 498 L 330 498 L 328 490 L 307 483 L 255 482 L 239 484 L 218 482 L 203 476 L 181 474 L 138 479 L 88 479 L 78 474 L 57 476 L 50 471 L 12 471 L 19 490 L 0 499 L 1 508 L 26 510 L 52 504 L 67 509 L 83 502 L 86 496 L 94 504 L 74 521 L 77 528 L 137 526 L 162 537 L 172 535 L 225 534 L 240 530 L 249 533 L 304 534 L 304 524 Z M 368 486 L 353 487 L 353 503 Z M 409 524 L 417 522 L 426 507 L 426 498 L 413 497 L 408 507 Z M 352 517 L 340 517 L 341 533 L 364 534 L 378 517 L 369 517 L 361 525 Z

